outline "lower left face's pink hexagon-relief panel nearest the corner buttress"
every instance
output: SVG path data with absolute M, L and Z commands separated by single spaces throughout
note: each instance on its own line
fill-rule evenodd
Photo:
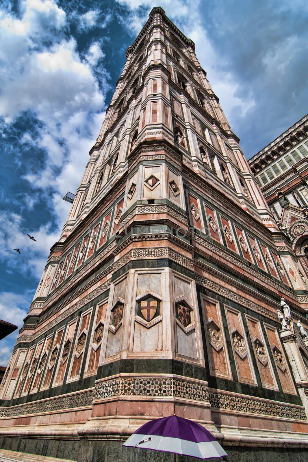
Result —
M 100 302 L 96 307 L 84 377 L 95 374 L 99 366 L 99 355 L 105 330 L 107 304 L 108 300 L 105 300 Z

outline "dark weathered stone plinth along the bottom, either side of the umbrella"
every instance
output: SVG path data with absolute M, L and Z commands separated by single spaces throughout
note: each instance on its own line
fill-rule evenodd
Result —
M 173 462 L 172 453 L 140 450 L 122 446 L 123 439 L 115 437 L 104 439 L 59 439 L 49 437 L 37 438 L 0 438 L 0 446 L 6 450 L 14 450 L 27 454 L 37 454 L 49 457 L 68 459 L 76 462 Z M 307 458 L 307 448 L 290 445 L 288 442 L 275 445 L 271 442 L 256 444 L 243 442 L 235 444 L 232 441 L 222 443 L 228 454 L 228 462 L 303 462 Z M 23 460 L 20 457 L 20 460 Z M 226 458 L 227 460 L 227 458 Z M 196 459 L 187 456 L 176 456 L 176 462 L 195 462 Z M 207 459 L 217 462 L 217 459 Z

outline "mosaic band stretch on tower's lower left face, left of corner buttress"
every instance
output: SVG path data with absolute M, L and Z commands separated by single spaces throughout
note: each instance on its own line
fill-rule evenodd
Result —
M 53 399 L 35 401 L 19 406 L 0 407 L 0 417 L 16 417 L 18 415 L 40 414 L 43 412 L 74 409 L 76 407 L 92 406 L 94 390 L 59 396 Z

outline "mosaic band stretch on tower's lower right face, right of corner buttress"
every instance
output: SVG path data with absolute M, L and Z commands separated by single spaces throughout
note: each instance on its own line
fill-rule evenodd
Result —
M 273 401 L 259 401 L 253 398 L 241 398 L 240 396 L 209 391 L 209 402 L 211 407 L 217 409 L 283 417 L 284 419 L 307 420 L 303 407 L 283 405 Z

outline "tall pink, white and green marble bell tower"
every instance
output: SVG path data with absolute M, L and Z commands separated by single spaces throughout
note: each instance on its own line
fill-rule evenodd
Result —
M 157 7 L 126 52 L 1 383 L 2 448 L 134 460 L 123 439 L 174 410 L 229 461 L 303 460 L 308 274 L 194 49 Z

